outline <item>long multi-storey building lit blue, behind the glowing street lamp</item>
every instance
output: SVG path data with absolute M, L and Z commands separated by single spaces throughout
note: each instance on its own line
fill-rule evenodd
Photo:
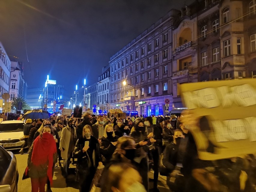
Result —
M 150 116 L 165 114 L 165 99 L 172 106 L 172 18 L 176 13 L 169 11 L 110 58 L 110 108 Z

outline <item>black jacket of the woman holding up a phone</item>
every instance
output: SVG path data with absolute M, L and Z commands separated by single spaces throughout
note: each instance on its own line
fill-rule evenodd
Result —
M 78 170 L 79 169 L 85 170 L 85 169 L 93 167 L 93 166 L 95 168 L 97 168 L 97 166 L 99 165 L 99 162 L 102 161 L 98 139 L 91 136 L 89 146 L 91 146 L 91 147 L 93 146 L 93 148 L 94 148 L 93 153 L 91 153 L 89 149 L 88 149 L 88 151 L 83 152 L 85 141 L 86 141 L 86 139 L 83 137 L 78 139 L 76 142 L 76 145 L 75 145 L 75 151 L 73 152 L 73 156 L 75 158 L 77 158 Z M 90 157 L 92 157 L 92 159 L 95 160 L 95 162 L 92 162 Z

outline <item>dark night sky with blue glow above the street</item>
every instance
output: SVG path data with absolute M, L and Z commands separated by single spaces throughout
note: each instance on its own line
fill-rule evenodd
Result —
M 0 41 L 24 63 L 29 87 L 43 87 L 49 74 L 72 95 L 84 78 L 87 85 L 96 82 L 114 53 L 170 9 L 190 2 L 0 0 Z

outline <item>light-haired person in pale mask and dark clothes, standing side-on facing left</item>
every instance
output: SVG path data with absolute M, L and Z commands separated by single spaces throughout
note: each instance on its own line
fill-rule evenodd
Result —
M 150 145 L 149 156 L 153 159 L 153 170 L 154 170 L 154 186 L 150 191 L 158 192 L 157 187 L 158 174 L 159 174 L 159 156 L 160 148 L 162 146 L 162 136 L 160 130 L 153 124 L 152 117 L 146 117 L 144 119 L 144 125 L 146 126 L 146 132 L 148 137 L 148 145 Z

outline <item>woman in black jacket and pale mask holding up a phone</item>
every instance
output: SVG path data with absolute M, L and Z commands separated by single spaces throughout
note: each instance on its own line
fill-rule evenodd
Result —
M 84 126 L 83 136 L 75 145 L 74 157 L 77 158 L 77 179 L 79 191 L 89 192 L 97 166 L 102 166 L 98 139 L 92 136 L 89 125 Z M 89 146 L 85 143 L 89 142 Z

